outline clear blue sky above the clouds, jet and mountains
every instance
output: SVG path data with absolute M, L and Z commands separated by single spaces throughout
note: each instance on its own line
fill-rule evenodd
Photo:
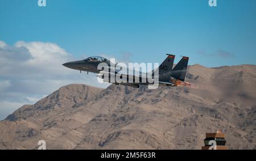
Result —
M 256 64 L 256 1 L 0 1 L 0 40 L 55 43 L 76 58 L 110 55 L 162 62 L 164 54 L 213 67 Z M 177 60 L 176 60 L 177 61 Z

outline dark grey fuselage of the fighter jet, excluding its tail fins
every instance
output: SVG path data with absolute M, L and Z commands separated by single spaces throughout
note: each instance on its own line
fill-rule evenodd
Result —
M 173 58 L 173 57 L 168 57 Z M 167 58 L 167 63 L 169 62 Z M 104 67 L 100 67 L 100 63 L 104 64 Z M 123 84 L 126 86 L 139 87 L 139 85 L 149 85 L 155 84 L 156 82 L 160 86 L 187 86 L 189 83 L 184 81 L 180 81 L 180 79 L 171 77 L 172 74 L 182 73 L 182 70 L 170 70 L 170 71 L 162 71 L 162 73 L 155 75 L 155 70 L 150 73 L 141 73 L 138 75 L 130 74 L 131 69 L 122 69 L 122 67 L 118 66 L 115 63 L 110 62 L 104 57 L 89 57 L 85 60 L 80 61 L 72 61 L 63 64 L 65 67 L 86 71 L 87 73 L 97 73 L 97 77 L 103 79 L 104 82 L 114 83 L 114 84 Z M 107 70 L 104 70 L 106 67 Z M 172 69 L 172 66 L 171 66 Z M 160 70 L 167 70 L 167 68 L 161 67 Z M 124 71 L 124 73 L 122 73 Z M 136 73 L 136 71 L 133 71 Z M 113 81 L 113 77 L 115 78 Z M 116 81 L 116 78 L 122 79 L 124 82 Z M 157 78 L 157 79 L 156 79 Z M 157 81 L 155 81 L 157 80 Z

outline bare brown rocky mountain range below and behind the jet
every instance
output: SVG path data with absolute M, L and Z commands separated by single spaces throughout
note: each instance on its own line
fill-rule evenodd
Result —
M 0 149 L 256 149 L 256 66 L 189 66 L 191 87 L 61 87 L 0 121 Z

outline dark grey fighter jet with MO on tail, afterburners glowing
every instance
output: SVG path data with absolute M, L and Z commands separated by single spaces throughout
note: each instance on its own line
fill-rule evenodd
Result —
M 118 72 L 119 70 L 113 69 L 117 67 L 117 64 L 110 62 L 108 59 L 100 56 L 93 56 L 88 57 L 85 60 L 80 61 L 73 61 L 73 62 L 67 62 L 63 65 L 65 67 L 69 67 L 71 69 L 86 71 L 87 73 L 97 73 L 97 77 L 100 77 L 104 79 L 104 82 L 114 83 L 114 84 L 122 84 L 125 86 L 131 86 L 134 88 L 139 88 L 140 85 L 150 85 L 154 84 L 152 83 L 152 80 L 147 78 L 147 75 L 151 74 L 152 78 L 158 77 L 158 84 L 159 86 L 190 86 L 188 82 L 185 81 L 185 74 L 187 71 L 188 66 L 188 60 L 189 57 L 182 56 L 181 60 L 177 63 L 177 65 L 172 69 L 174 65 L 175 55 L 167 54 L 166 60 L 162 62 L 162 64 L 158 67 L 158 69 L 152 70 L 150 73 L 146 74 L 146 78 L 142 76 L 142 74 L 139 75 L 129 75 L 129 74 L 121 74 Z M 98 70 L 98 65 L 100 63 L 105 63 L 108 67 L 108 71 L 106 72 L 104 69 Z M 122 67 L 120 68 L 122 69 Z M 158 75 L 156 75 L 156 70 L 158 70 Z M 108 79 L 104 74 L 108 75 Z M 111 82 L 110 77 L 118 75 L 122 79 L 127 79 L 125 83 L 121 82 Z M 103 75 L 103 77 L 102 77 Z M 132 78 L 132 81 L 129 79 Z M 106 81 L 107 80 L 107 81 Z M 135 80 L 138 80 L 137 82 Z M 146 80 L 146 81 L 143 81 Z

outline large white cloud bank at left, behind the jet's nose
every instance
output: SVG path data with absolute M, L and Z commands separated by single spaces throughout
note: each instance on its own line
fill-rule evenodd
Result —
M 67 84 L 109 85 L 98 83 L 94 74 L 80 74 L 62 65 L 75 59 L 54 43 L 18 41 L 9 46 L 0 41 L 0 120 Z

